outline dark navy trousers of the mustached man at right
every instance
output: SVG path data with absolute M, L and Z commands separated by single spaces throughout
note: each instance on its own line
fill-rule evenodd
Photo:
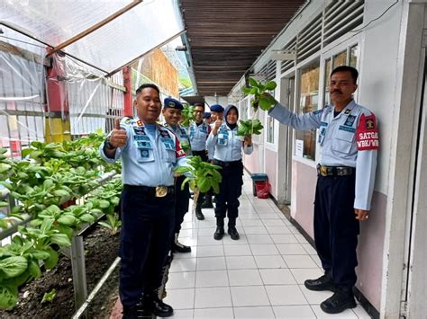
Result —
M 355 174 L 317 179 L 314 201 L 314 241 L 325 271 L 335 285 L 352 287 L 358 265 L 359 220 L 354 214 Z

